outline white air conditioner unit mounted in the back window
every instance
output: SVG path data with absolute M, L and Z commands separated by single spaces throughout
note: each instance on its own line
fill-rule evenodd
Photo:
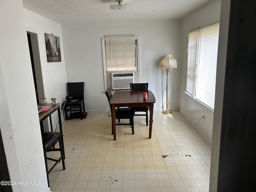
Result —
M 113 89 L 130 89 L 130 83 L 134 83 L 134 72 L 112 73 Z

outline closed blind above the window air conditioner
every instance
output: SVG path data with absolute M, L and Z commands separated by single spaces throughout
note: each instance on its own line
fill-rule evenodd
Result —
M 106 70 L 136 70 L 134 36 L 106 37 Z

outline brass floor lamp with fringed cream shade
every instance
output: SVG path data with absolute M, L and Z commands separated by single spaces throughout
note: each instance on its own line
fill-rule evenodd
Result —
M 166 110 L 162 111 L 164 114 L 172 114 L 168 110 L 168 72 L 172 71 L 172 68 L 177 68 L 177 61 L 172 55 L 165 55 L 160 62 L 160 68 L 166 69 Z

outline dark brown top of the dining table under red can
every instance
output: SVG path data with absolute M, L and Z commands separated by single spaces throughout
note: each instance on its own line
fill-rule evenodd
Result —
M 148 93 L 148 99 L 143 99 L 143 93 Z M 110 98 L 110 104 L 124 104 L 124 103 L 155 103 L 156 98 L 150 91 L 116 91 Z

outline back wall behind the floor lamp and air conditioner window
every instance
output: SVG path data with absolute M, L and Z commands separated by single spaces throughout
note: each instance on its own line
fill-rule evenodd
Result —
M 165 103 L 166 73 L 159 68 L 165 54 L 177 59 L 178 68 L 169 75 L 169 109 L 178 109 L 180 90 L 180 21 L 116 22 L 62 26 L 68 82 L 85 82 L 86 112 L 106 112 L 101 38 L 105 35 L 140 36 L 141 82 L 149 83 L 156 97 L 154 110 Z

